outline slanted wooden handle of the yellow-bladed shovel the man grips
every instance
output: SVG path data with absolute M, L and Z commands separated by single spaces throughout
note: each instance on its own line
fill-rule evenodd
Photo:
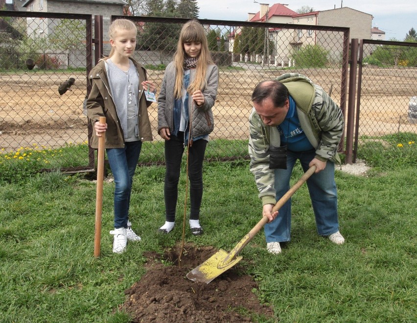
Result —
M 282 205 L 285 204 L 286 201 L 288 201 L 294 193 L 300 188 L 302 184 L 316 171 L 316 166 L 311 166 L 307 172 L 305 172 L 301 178 L 295 183 L 287 193 L 284 194 L 282 198 L 278 200 L 278 202 L 274 205 L 272 208 L 272 212 L 278 211 Z M 229 252 L 229 255 L 224 260 L 224 263 L 227 263 L 229 260 L 232 260 L 236 254 L 240 252 L 248 243 L 252 240 L 252 238 L 255 236 L 256 233 L 260 231 L 260 229 L 263 228 L 265 224 L 267 224 L 269 219 L 267 217 L 262 217 L 262 219 L 253 227 L 249 233 L 243 237 L 242 240 L 239 241 L 239 243 L 232 249 L 231 252 Z

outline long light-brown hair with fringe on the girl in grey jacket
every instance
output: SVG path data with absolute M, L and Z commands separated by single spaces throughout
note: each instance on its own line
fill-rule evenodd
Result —
M 207 66 L 213 64 L 211 60 L 206 32 L 203 26 L 196 20 L 190 20 L 181 29 L 177 50 L 174 54 L 174 64 L 177 76 L 175 78 L 174 96 L 177 99 L 182 97 L 183 76 L 184 76 L 184 43 L 201 43 L 201 52 L 197 60 L 196 77 L 188 86 L 187 92 L 202 90 L 206 83 Z

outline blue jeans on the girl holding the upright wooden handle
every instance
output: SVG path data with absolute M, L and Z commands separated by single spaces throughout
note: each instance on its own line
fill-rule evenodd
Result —
M 127 228 L 133 175 L 139 160 L 142 142 L 126 142 L 124 148 L 106 149 L 110 168 L 115 177 L 115 228 Z

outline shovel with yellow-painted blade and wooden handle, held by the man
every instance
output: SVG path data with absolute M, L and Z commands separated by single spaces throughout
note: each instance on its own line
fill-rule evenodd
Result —
M 278 200 L 277 204 L 275 204 L 272 208 L 272 211 L 278 211 L 315 171 L 316 166 L 311 166 L 308 171 L 301 176 L 298 182 L 295 183 L 281 199 Z M 218 275 L 232 268 L 242 259 L 241 256 L 237 257 L 236 255 L 249 243 L 249 241 L 252 240 L 255 234 L 258 233 L 268 221 L 267 217 L 262 217 L 254 228 L 238 242 L 236 247 L 234 247 L 231 252 L 228 253 L 225 250 L 220 249 L 200 266 L 187 273 L 187 278 L 193 281 L 208 284 Z

